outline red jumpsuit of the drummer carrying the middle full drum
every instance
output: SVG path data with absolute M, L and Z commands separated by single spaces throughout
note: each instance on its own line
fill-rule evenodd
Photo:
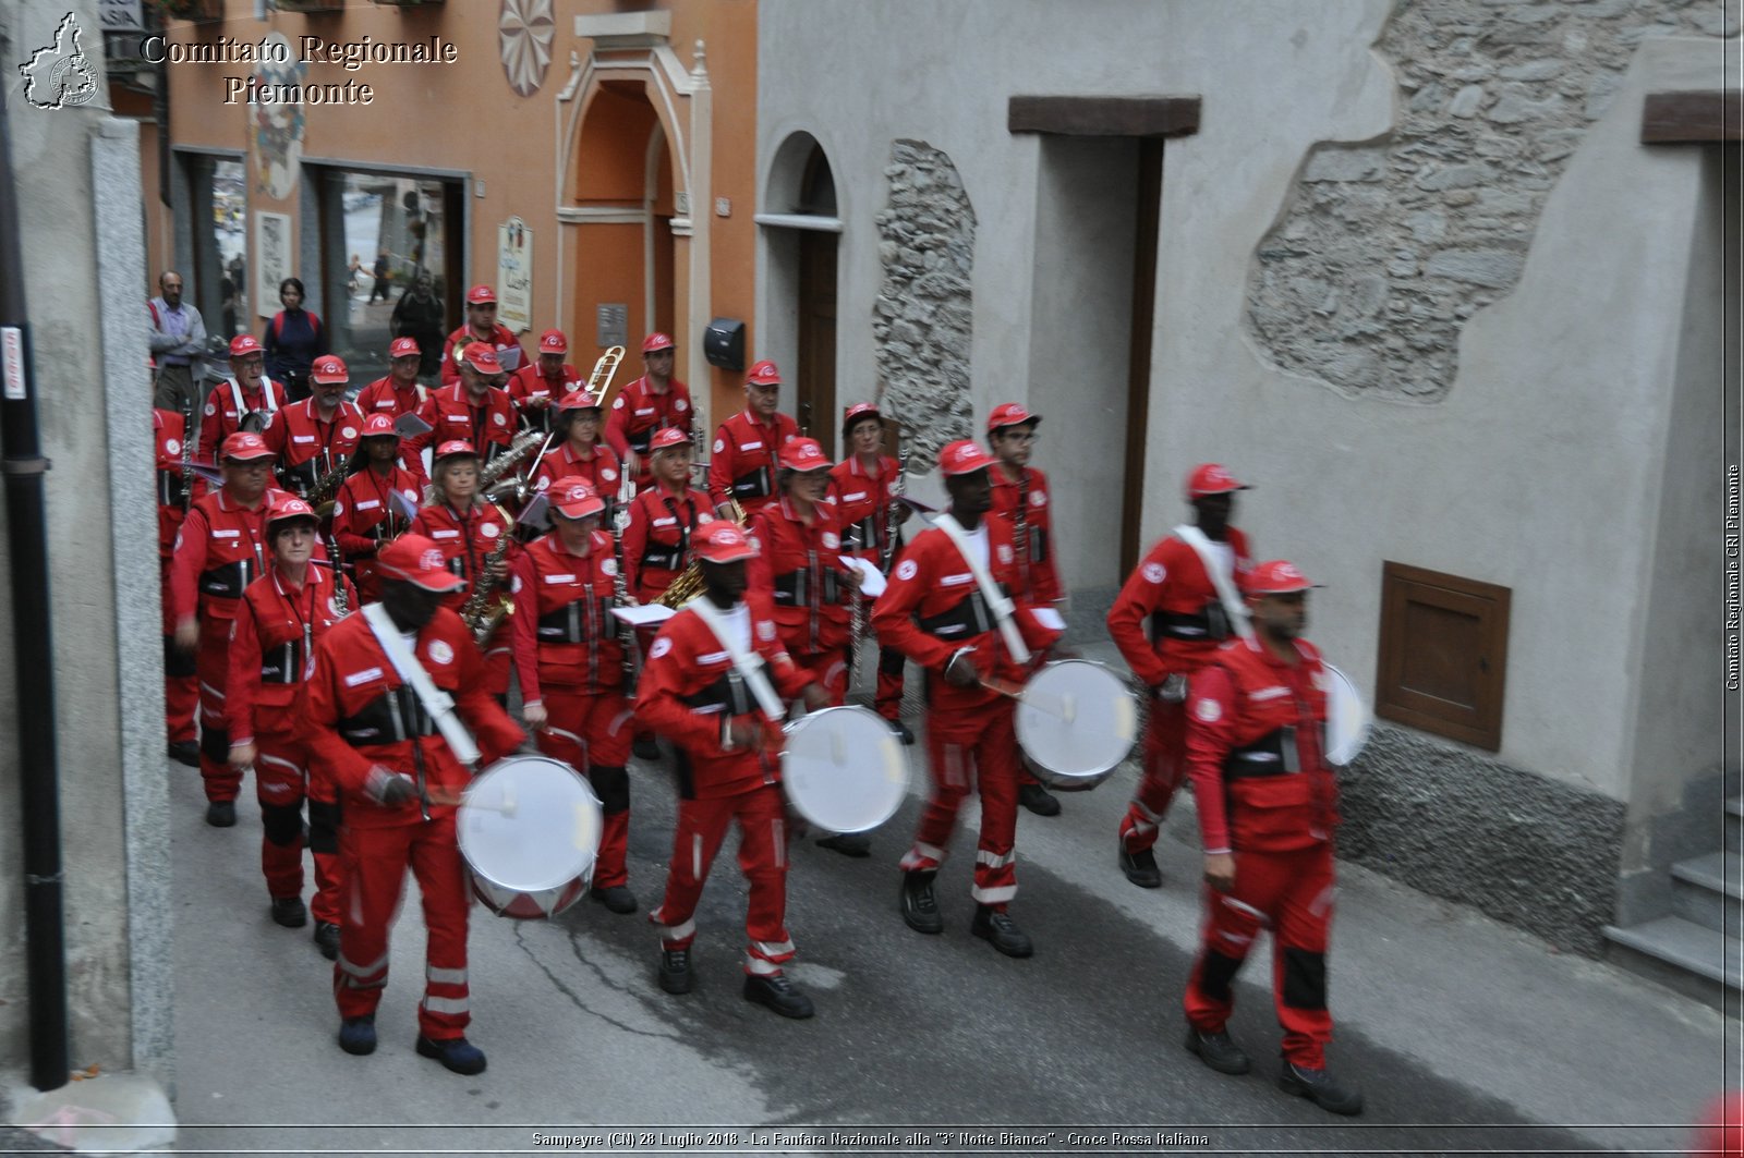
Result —
M 720 616 L 736 621 L 738 645 L 762 663 L 776 694 L 792 698 L 804 689 L 809 680 L 781 651 L 773 619 L 757 616 L 748 603 Z M 764 752 L 727 750 L 727 724 L 736 719 L 766 727 L 773 741 L 780 738 L 780 724 L 757 712 L 715 633 L 694 610 L 680 610 L 661 626 L 637 691 L 637 722 L 678 748 L 671 870 L 666 896 L 649 919 L 661 926 L 664 949 L 687 949 L 696 940 L 696 902 L 727 825 L 738 818 L 739 872 L 750 884 L 745 971 L 767 977 L 794 956 L 787 933 L 781 757 L 778 745 Z

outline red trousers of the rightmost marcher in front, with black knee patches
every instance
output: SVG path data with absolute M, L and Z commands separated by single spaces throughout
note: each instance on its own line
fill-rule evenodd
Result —
M 1332 926 L 1332 842 L 1289 853 L 1235 853 L 1235 888 L 1205 886 L 1205 930 L 1188 978 L 1188 1024 L 1216 1032 L 1235 1010 L 1231 984 L 1261 924 L 1271 926 L 1271 994 L 1284 1060 L 1320 1069 L 1332 1039 L 1325 947 Z

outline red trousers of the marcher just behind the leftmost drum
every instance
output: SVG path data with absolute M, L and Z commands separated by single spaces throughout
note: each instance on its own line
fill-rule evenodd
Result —
M 617 692 L 581 692 L 574 687 L 539 685 L 548 724 L 535 734 L 539 750 L 570 764 L 593 783 L 605 814 L 600 858 L 593 888 L 609 889 L 630 881 L 630 717 L 633 708 Z

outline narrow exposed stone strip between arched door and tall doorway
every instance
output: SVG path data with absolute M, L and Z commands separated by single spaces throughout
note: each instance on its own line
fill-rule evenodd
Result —
M 945 443 L 975 433 L 975 209 L 950 157 L 924 141 L 895 141 L 884 176 L 889 204 L 875 218 L 884 281 L 872 316 L 877 401 L 902 422 L 914 450 L 909 473 L 919 474 Z

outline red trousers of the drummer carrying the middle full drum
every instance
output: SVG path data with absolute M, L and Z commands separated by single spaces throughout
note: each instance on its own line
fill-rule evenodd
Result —
M 689 949 L 696 940 L 696 921 L 691 919 L 696 902 L 734 818 L 739 821 L 739 872 L 750 884 L 745 971 L 773 977 L 781 971 L 783 961 L 794 957 L 794 940 L 787 933 L 787 802 L 778 785 L 757 785 L 706 800 L 678 800 L 666 896 L 649 921 L 664 926 L 664 949 Z

